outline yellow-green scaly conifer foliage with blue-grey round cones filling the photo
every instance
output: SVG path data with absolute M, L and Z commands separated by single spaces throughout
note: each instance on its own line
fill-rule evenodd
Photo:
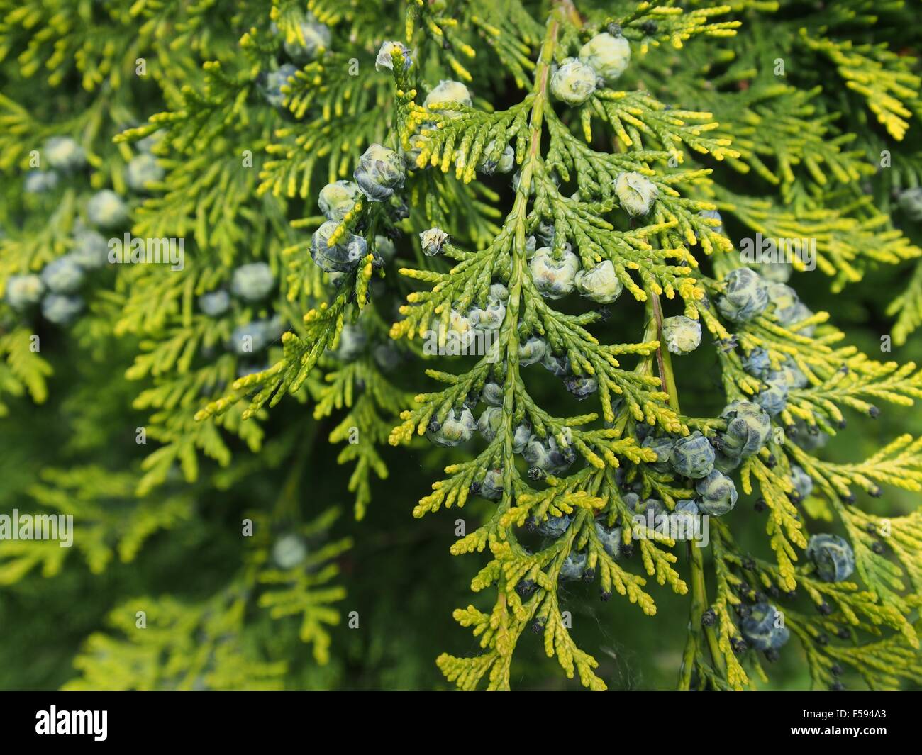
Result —
M 664 593 L 680 690 L 760 689 L 782 656 L 817 690 L 922 683 L 922 513 L 891 502 L 922 491 L 922 372 L 887 354 L 922 325 L 912 20 L 0 0 L 2 499 L 73 514 L 83 560 L 6 537 L 0 584 L 162 543 L 223 564 L 107 605 L 67 689 L 298 686 L 304 646 L 374 631 L 345 584 L 379 508 L 464 525 L 477 650 L 425 659 L 462 690 L 542 650 L 617 686 L 581 616 L 655 628 Z M 877 354 L 808 303 L 864 300 Z M 59 426 L 28 427 L 42 405 Z M 865 455 L 836 442 L 862 418 Z

